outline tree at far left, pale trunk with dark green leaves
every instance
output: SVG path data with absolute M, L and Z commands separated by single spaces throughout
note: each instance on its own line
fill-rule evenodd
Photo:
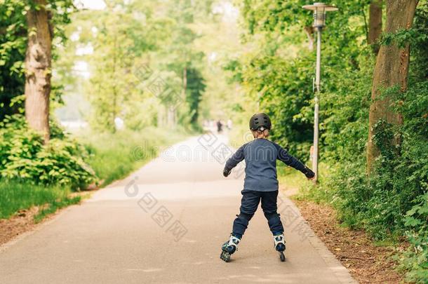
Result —
M 52 41 L 62 45 L 62 27 L 72 11 L 73 0 L 8 0 L 0 5 L 0 120 L 21 111 L 20 96 L 25 93 L 29 126 L 43 133 L 46 142 Z

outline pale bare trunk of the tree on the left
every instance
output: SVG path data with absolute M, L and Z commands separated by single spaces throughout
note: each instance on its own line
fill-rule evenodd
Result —
M 29 127 L 49 141 L 49 95 L 51 94 L 52 34 L 46 0 L 27 13 L 28 46 L 25 56 L 25 117 Z

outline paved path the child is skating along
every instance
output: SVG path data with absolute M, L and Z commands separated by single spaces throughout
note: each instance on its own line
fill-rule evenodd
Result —
M 221 159 L 221 148 L 213 156 L 208 144 L 226 141 L 213 139 L 175 145 L 126 180 L 0 247 L 0 283 L 354 283 L 287 198 L 280 206 L 286 262 L 279 261 L 261 212 L 233 261 L 220 260 L 242 177 L 222 177 L 214 158 Z

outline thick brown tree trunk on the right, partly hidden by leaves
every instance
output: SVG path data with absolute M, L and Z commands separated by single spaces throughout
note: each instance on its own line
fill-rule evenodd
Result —
M 417 0 L 387 0 L 387 23 L 385 32 L 394 33 L 399 29 L 410 29 L 415 15 Z M 383 119 L 387 123 L 401 124 L 403 118 L 390 109 L 391 98 L 380 96 L 382 88 L 400 86 L 401 91 L 407 89 L 407 76 L 410 46 L 399 48 L 396 44 L 381 46 L 377 54 L 373 74 L 372 104 L 369 113 L 369 133 L 367 147 L 367 170 L 373 168 L 373 161 L 379 156 L 379 149 L 373 143 L 375 132 L 373 127 Z

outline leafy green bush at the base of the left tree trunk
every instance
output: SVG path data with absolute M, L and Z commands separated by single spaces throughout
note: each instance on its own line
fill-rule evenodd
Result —
M 6 116 L 0 124 L 0 170 L 2 180 L 24 180 L 33 184 L 67 185 L 81 189 L 95 182 L 86 165 L 87 152 L 53 127 L 53 138 L 43 138 L 27 127 L 21 115 Z

